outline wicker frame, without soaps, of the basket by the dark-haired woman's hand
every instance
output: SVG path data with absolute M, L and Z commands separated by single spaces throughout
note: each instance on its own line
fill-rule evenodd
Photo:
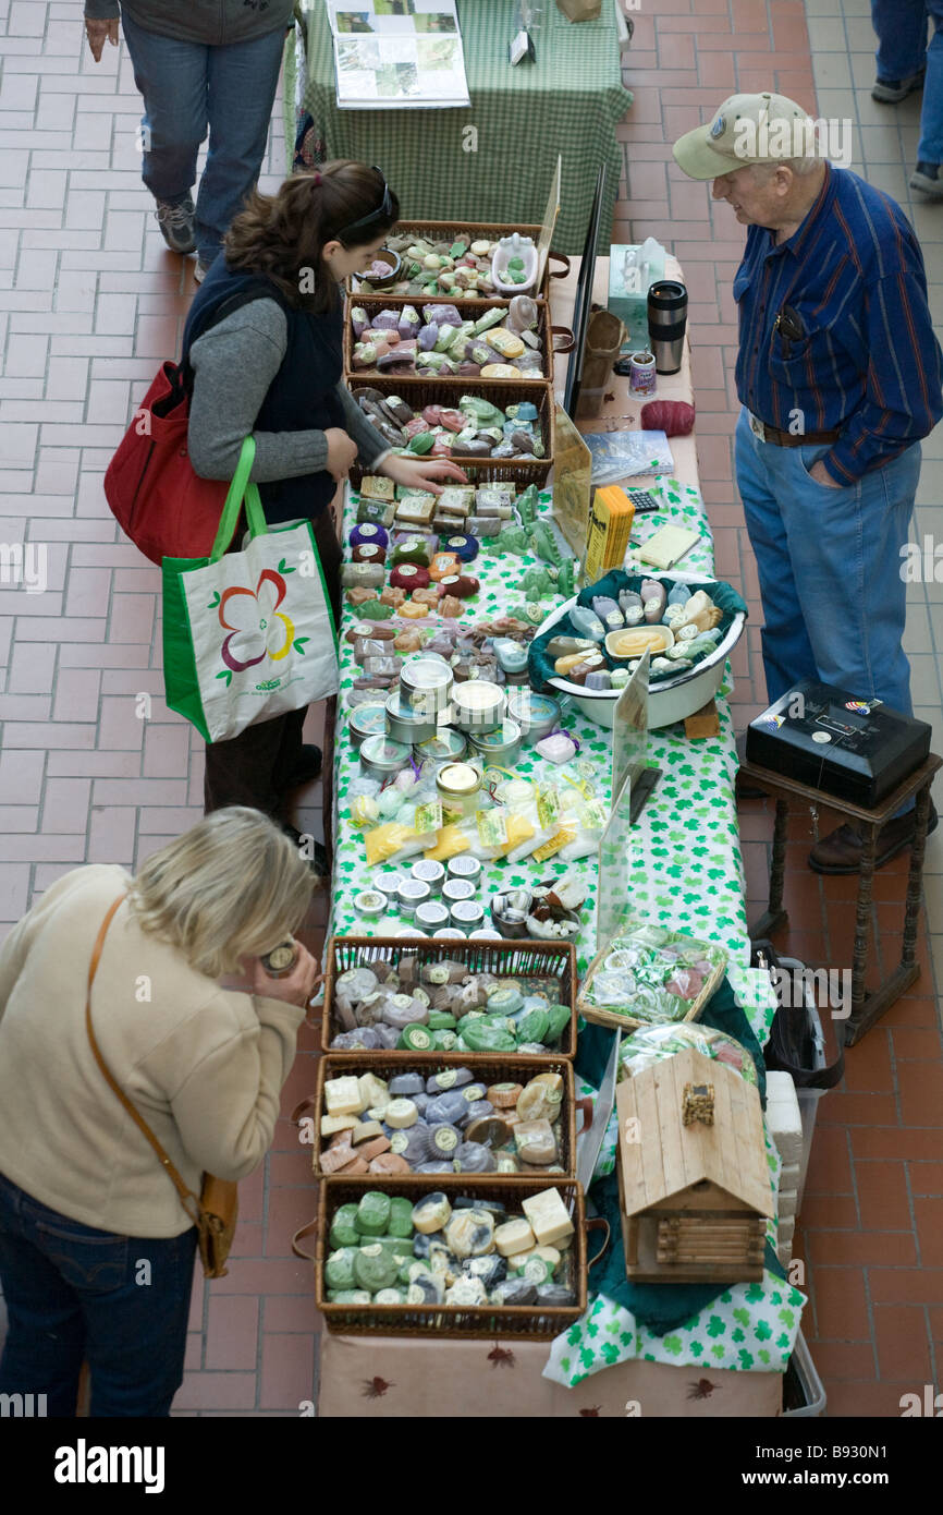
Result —
M 554 386 L 546 379 L 463 379 L 460 388 L 456 388 L 454 379 L 407 382 L 403 376 L 391 379 L 386 374 L 348 374 L 345 383 L 354 398 L 359 388 L 377 389 L 384 398 L 391 394 L 403 395 L 413 411 L 442 405 L 451 394 L 474 394 L 501 409 L 530 400 L 537 408 L 543 458 L 456 458 L 454 462 L 472 483 L 513 483 L 518 489 L 525 489 L 528 483 L 543 485 L 554 465 Z M 353 465 L 350 480 L 354 489 L 360 488 L 365 473 L 369 470 L 359 462 Z

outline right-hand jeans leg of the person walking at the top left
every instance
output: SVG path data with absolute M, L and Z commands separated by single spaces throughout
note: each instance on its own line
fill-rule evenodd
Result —
M 198 267 L 207 268 L 259 179 L 285 32 L 207 48 L 209 148 L 197 195 Z

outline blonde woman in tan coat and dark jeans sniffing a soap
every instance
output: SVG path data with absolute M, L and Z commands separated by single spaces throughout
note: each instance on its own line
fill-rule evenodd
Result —
M 244 1179 L 271 1145 L 318 964 L 259 957 L 304 920 L 313 877 L 257 811 L 230 807 L 132 879 L 76 868 L 0 947 L 0 1282 L 9 1332 L 0 1394 L 76 1412 L 168 1415 L 183 1377 L 197 1232 L 153 1148 L 95 1064 L 91 992 L 114 1079 L 186 1185 Z M 242 988 L 221 986 L 241 974 Z

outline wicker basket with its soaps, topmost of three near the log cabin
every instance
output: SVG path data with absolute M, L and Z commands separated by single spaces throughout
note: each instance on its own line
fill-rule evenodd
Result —
M 575 1056 L 572 942 L 333 936 L 325 964 L 321 1042 L 348 1062 L 371 1067 L 383 1056 L 406 1068 L 416 1053 L 443 1053 L 474 1070 L 480 1059 L 506 1053 L 531 1062 Z M 445 1021 L 430 1026 L 436 1017 Z M 394 1030 L 397 1041 L 387 1047 Z

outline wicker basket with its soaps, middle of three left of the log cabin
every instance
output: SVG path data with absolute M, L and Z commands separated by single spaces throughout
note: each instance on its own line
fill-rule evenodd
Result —
M 592 1101 L 575 1098 L 566 1059 L 481 1059 L 474 1073 L 457 1057 L 409 1062 L 319 1059 L 313 1100 L 292 1112 L 313 1112 L 315 1177 L 575 1177 L 577 1112 L 583 1132 Z

